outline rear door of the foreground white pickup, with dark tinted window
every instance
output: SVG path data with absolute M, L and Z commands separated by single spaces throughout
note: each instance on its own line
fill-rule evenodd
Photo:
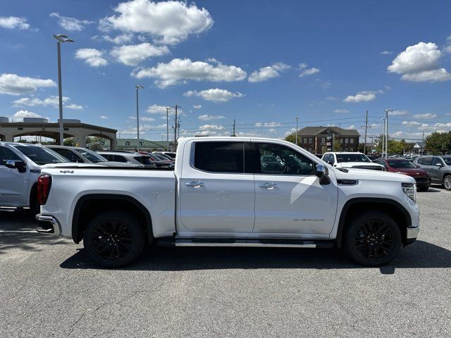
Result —
M 224 236 L 252 232 L 254 176 L 245 174 L 245 146 L 249 142 L 193 141 L 185 145 L 183 163 L 189 164 L 183 165 L 178 184 L 178 213 L 189 232 Z

